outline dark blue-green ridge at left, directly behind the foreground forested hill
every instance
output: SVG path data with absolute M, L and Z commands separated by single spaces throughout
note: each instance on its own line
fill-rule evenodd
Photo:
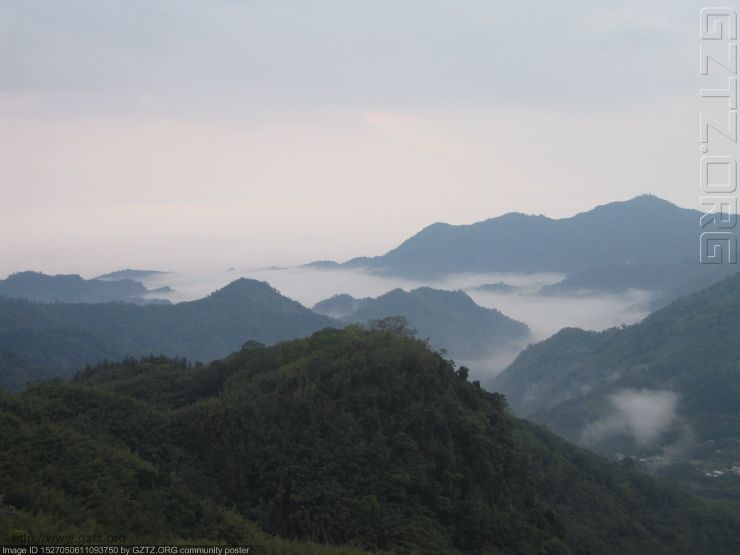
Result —
M 272 344 L 338 322 L 240 279 L 177 305 L 42 304 L 0 298 L 0 387 L 66 377 L 85 364 L 164 354 L 210 361 L 251 339 Z

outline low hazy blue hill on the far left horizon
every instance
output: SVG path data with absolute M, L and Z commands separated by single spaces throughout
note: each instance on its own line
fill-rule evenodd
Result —
M 19 272 L 0 280 L 0 297 L 47 303 L 168 303 L 161 299 L 145 299 L 148 293 L 151 291 L 132 279 L 108 281 L 84 279 L 78 275 L 49 276 L 39 272 Z

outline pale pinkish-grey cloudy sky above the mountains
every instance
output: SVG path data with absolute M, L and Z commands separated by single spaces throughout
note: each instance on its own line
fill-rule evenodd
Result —
M 702 7 L 0 0 L 0 275 L 344 260 L 647 192 L 699 208 Z

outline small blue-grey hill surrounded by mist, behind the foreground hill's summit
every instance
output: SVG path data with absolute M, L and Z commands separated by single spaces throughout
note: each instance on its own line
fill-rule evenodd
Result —
M 314 306 L 314 310 L 330 314 L 338 308 L 351 309 L 342 315 L 348 322 L 404 316 L 419 337 L 429 338 L 433 347 L 444 348 L 461 360 L 483 358 L 502 347 L 523 346 L 529 337 L 526 324 L 475 304 L 462 291 L 394 289 L 375 299 L 338 295 Z

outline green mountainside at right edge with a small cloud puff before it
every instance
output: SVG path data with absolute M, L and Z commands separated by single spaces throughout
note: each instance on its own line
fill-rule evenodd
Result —
M 633 326 L 562 330 L 491 387 L 518 414 L 582 445 L 740 497 L 738 338 L 736 275 Z

